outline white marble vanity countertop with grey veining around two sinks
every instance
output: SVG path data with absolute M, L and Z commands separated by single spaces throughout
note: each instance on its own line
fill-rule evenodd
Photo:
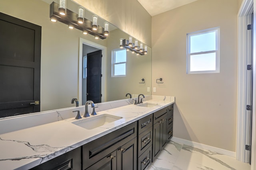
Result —
M 80 111 L 82 119 L 75 119 L 74 116 L 69 119 L 0 134 L 0 169 L 27 170 L 37 166 L 175 102 L 174 97 L 169 96 L 166 97 L 167 100 L 163 100 L 164 97 L 152 96 L 151 99 L 149 98 L 150 100 L 144 102 L 158 104 L 155 107 L 140 107 L 129 104 L 112 109 L 102 109 L 102 111 L 96 109 L 97 115 L 107 113 L 123 118 L 95 129 L 87 130 L 72 123 L 93 117 L 93 115 L 90 115 L 90 117 L 85 118 L 83 117 L 84 112 Z M 22 119 L 22 116 L 19 118 Z M 36 116 L 34 116 L 34 119 L 36 119 Z M 12 126 L 12 124 L 8 126 Z

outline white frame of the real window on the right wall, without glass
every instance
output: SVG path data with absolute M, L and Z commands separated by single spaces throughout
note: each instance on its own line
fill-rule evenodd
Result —
M 190 53 L 190 37 L 191 35 L 200 35 L 202 33 L 216 32 L 216 50 L 213 51 L 202 51 L 199 53 Z M 205 70 L 205 71 L 190 71 L 190 55 L 206 54 L 216 52 L 216 70 Z M 220 72 L 220 27 L 214 27 L 210 29 L 204 29 L 187 34 L 187 74 L 203 74 L 203 73 L 219 73 Z

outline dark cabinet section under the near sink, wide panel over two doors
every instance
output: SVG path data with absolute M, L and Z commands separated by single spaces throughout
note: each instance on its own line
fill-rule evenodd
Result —
M 82 146 L 82 169 L 135 170 L 137 122 Z

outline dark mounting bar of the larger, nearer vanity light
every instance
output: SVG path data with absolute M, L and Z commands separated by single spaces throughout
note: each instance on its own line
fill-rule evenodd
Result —
M 66 9 L 66 15 L 62 16 L 58 12 L 59 4 L 56 2 L 52 2 L 50 4 L 50 18 L 54 16 L 57 21 L 60 21 L 62 23 L 65 23 L 67 25 L 73 25 L 74 28 L 79 29 L 81 31 L 88 31 L 88 34 L 90 35 L 98 35 L 100 39 L 106 39 L 106 36 L 104 35 L 104 28 L 98 25 L 98 29 L 96 31 L 92 30 L 92 21 L 87 20 L 84 18 L 84 23 L 80 24 L 77 21 L 78 15 L 75 12 L 72 12 L 68 9 Z

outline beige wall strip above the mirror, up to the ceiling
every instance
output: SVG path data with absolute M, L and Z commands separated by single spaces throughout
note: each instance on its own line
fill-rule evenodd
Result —
M 74 0 L 151 47 L 151 16 L 138 0 Z

